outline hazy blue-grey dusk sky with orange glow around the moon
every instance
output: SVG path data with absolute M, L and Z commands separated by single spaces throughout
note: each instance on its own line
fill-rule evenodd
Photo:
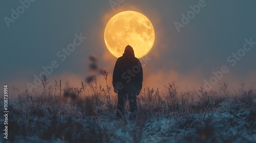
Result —
M 24 91 L 27 83 L 34 84 L 34 75 L 44 71 L 42 66 L 53 64 L 49 85 L 61 79 L 79 87 L 89 75 L 86 67 L 93 54 L 109 71 L 112 87 L 117 58 L 104 43 L 104 28 L 115 14 L 133 10 L 150 19 L 155 30 L 152 50 L 140 58 L 143 87 L 163 88 L 175 81 L 180 90 L 218 90 L 219 83 L 228 81 L 231 87 L 244 82 L 246 88 L 255 89 L 255 6 L 253 0 L 2 1 L 0 83 Z M 12 14 L 17 11 L 18 16 Z M 60 56 L 79 36 L 80 44 L 66 58 Z M 105 85 L 103 76 L 97 78 Z M 42 85 L 36 87 L 33 90 Z

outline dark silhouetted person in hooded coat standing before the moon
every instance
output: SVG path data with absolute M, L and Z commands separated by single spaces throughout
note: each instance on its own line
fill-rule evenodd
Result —
M 135 57 L 130 45 L 125 47 L 123 56 L 116 61 L 113 72 L 113 86 L 118 95 L 117 117 L 124 116 L 124 103 L 129 99 L 131 119 L 135 119 L 137 110 L 137 95 L 140 93 L 143 81 L 143 71 L 140 60 Z

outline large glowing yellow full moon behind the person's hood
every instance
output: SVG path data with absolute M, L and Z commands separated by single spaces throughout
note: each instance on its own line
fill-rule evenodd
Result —
M 155 31 L 151 21 L 136 11 L 123 11 L 114 15 L 106 24 L 104 40 L 111 54 L 119 58 L 127 45 L 131 45 L 135 57 L 141 58 L 150 52 Z

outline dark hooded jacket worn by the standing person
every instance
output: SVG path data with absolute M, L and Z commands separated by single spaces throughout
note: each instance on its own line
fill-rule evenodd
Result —
M 123 56 L 119 57 L 113 71 L 115 92 L 138 95 L 142 88 L 143 71 L 140 60 L 135 57 L 130 45 L 125 47 Z

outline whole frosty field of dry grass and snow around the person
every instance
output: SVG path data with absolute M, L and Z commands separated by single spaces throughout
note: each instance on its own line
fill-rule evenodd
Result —
M 238 89 L 236 94 L 224 88 L 218 92 L 179 93 L 172 85 L 161 93 L 145 89 L 138 96 L 137 118 L 130 121 L 116 118 L 117 99 L 110 88 L 91 86 L 86 87 L 90 90 L 83 88 L 79 93 L 72 88 L 63 95 L 56 90 L 47 90 L 40 96 L 20 93 L 15 101 L 9 102 L 8 139 L 1 134 L 1 140 L 256 142 L 254 89 Z

